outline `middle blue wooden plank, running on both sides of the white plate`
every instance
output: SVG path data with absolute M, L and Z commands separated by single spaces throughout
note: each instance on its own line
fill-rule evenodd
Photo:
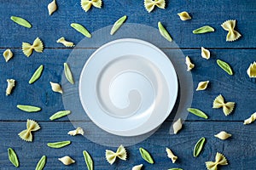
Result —
M 91 53 L 95 49 L 91 50 Z M 22 54 L 21 49 L 13 49 L 15 54 L 13 59 L 5 63 L 4 59 L 0 62 L 0 120 L 26 120 L 27 118 L 36 119 L 38 121 L 48 121 L 49 116 L 55 111 L 64 110 L 61 94 L 52 92 L 49 81 L 61 83 L 61 76 L 63 71 L 63 63 L 66 62 L 68 55 L 72 49 L 45 49 L 43 54 L 34 53 L 30 58 L 26 58 Z M 255 79 L 247 76 L 247 67 L 250 63 L 256 60 L 255 50 L 253 49 L 214 49 L 210 50 L 212 58 L 207 60 L 201 58 L 201 50 L 183 50 L 183 54 L 189 55 L 192 62 L 195 63 L 195 69 L 191 71 L 193 76 L 194 90 L 198 82 L 210 81 L 210 86 L 205 91 L 191 92 L 193 93 L 192 107 L 205 111 L 210 121 L 242 121 L 255 112 L 255 93 L 256 82 Z M 1 51 L 2 52 L 2 51 Z M 164 49 L 164 52 L 172 59 L 172 49 Z M 216 59 L 223 59 L 228 62 L 233 71 L 234 76 L 229 76 L 216 64 Z M 175 59 L 174 59 L 175 60 Z M 177 63 L 175 67 L 184 64 Z M 44 65 L 42 76 L 37 82 L 29 84 L 28 81 L 39 65 Z M 73 71 L 81 71 L 82 68 L 77 68 L 76 65 L 70 65 Z M 184 72 L 186 72 L 184 70 Z M 16 87 L 13 93 L 9 96 L 5 95 L 7 87 L 6 79 L 15 78 Z M 79 83 L 79 77 L 75 77 L 75 82 Z M 75 86 L 74 86 L 75 87 Z M 63 89 L 67 95 L 68 89 Z M 236 102 L 236 109 L 230 116 L 224 116 L 221 109 L 212 109 L 212 102 L 218 94 L 223 94 L 226 101 Z M 26 113 L 16 108 L 16 105 L 38 105 L 42 107 L 42 111 L 38 113 Z M 76 113 L 73 113 L 76 114 Z M 169 117 L 172 120 L 174 115 Z M 60 121 L 67 121 L 66 118 Z M 90 121 L 85 116 L 85 119 L 78 119 Z M 201 118 L 189 114 L 188 120 L 200 121 Z

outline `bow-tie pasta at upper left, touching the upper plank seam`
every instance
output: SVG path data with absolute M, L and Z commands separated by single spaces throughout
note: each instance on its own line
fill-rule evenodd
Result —
M 38 53 L 43 53 L 43 49 L 44 44 L 38 37 L 34 40 L 32 45 L 27 42 L 22 42 L 22 51 L 23 54 L 26 55 L 26 57 L 29 57 L 32 54 L 33 50 Z

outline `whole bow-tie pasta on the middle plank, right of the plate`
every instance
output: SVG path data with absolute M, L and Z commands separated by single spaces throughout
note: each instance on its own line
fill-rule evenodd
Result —
M 218 109 L 218 108 L 223 108 L 223 112 L 225 116 L 230 115 L 230 113 L 233 111 L 235 107 L 235 102 L 224 102 L 224 97 L 219 94 L 213 101 L 212 108 Z

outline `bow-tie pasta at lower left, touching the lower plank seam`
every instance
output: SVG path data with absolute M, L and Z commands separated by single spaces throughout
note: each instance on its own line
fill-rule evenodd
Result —
M 32 142 L 32 132 L 38 131 L 39 129 L 40 126 L 37 122 L 27 119 L 26 130 L 23 130 L 19 133 L 20 139 L 23 139 L 26 142 Z

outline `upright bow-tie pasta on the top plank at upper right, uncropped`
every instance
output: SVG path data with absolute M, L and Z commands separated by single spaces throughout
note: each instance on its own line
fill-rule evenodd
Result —
M 241 37 L 241 34 L 234 30 L 236 26 L 236 20 L 226 20 L 221 26 L 225 31 L 229 31 L 226 37 L 227 42 L 236 41 Z

